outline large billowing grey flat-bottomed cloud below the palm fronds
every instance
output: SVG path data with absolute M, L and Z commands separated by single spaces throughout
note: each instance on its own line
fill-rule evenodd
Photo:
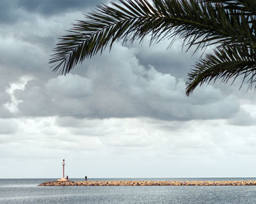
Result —
M 58 76 L 45 85 L 28 82 L 16 93 L 22 101 L 20 116 L 192 120 L 229 119 L 241 111 L 236 96 L 223 95 L 211 85 L 187 98 L 184 79 L 140 65 L 127 47 L 116 45 L 99 58 L 86 63 L 83 76 Z

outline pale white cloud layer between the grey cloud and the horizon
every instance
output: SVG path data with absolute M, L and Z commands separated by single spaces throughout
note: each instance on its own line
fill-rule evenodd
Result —
M 90 177 L 252 176 L 255 168 L 250 162 L 256 157 L 254 126 L 227 125 L 225 119 L 162 122 L 148 118 L 74 118 L 78 127 L 61 123 L 71 119 L 10 119 L 10 123 L 16 122 L 18 131 L 0 135 L 0 141 L 9 140 L 0 144 L 4 177 L 28 176 L 28 171 L 29 177 L 58 178 L 62 158 L 67 160 L 71 178 L 83 177 L 85 172 Z M 80 134 L 72 133 L 74 129 Z M 89 132 L 105 135 L 91 137 Z M 29 162 L 34 165 L 19 174 L 19 169 L 7 170 L 13 160 L 20 166 Z M 242 165 L 233 168 L 245 162 L 247 169 Z M 47 170 L 49 167 L 52 170 Z

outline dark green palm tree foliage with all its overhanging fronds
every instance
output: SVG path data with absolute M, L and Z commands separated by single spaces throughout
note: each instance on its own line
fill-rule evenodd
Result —
M 255 0 L 119 0 L 102 4 L 60 38 L 50 63 L 67 74 L 116 41 L 134 42 L 151 36 L 151 43 L 183 39 L 195 50 L 214 45 L 189 71 L 187 95 L 204 82 L 227 82 L 242 76 L 252 87 L 256 74 Z

